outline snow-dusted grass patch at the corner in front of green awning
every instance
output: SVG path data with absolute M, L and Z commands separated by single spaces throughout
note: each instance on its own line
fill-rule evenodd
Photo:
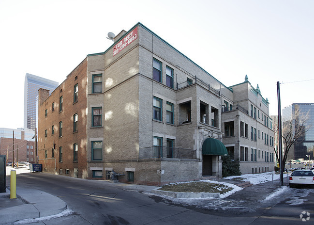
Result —
M 231 191 L 232 189 L 233 188 L 225 186 L 223 184 L 194 181 L 187 183 L 167 184 L 160 188 L 159 190 L 168 192 L 193 192 L 193 193 L 208 192 L 224 194 Z

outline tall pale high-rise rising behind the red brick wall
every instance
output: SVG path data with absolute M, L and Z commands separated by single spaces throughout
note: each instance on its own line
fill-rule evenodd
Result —
M 24 128 L 36 128 L 36 96 L 38 89 L 45 88 L 50 93 L 59 86 L 59 83 L 27 73 L 24 84 Z

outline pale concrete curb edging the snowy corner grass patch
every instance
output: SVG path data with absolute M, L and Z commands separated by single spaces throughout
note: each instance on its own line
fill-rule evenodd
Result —
M 167 195 L 173 198 L 219 198 L 220 193 L 208 193 L 208 192 L 201 192 L 201 193 L 188 193 L 188 192 L 168 192 L 168 191 L 161 191 L 158 190 L 161 187 L 155 188 L 151 190 L 151 193 Z

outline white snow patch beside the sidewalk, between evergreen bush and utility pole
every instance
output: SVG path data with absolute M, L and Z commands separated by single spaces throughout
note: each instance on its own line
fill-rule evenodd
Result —
M 272 172 L 267 172 L 267 173 L 262 173 L 262 174 L 243 174 L 240 176 L 229 176 L 229 177 L 224 177 L 224 179 L 250 181 L 251 184 L 260 184 L 260 183 L 266 183 L 266 182 L 272 181 Z M 274 174 L 274 180 L 277 180 L 277 179 L 279 179 L 279 174 Z

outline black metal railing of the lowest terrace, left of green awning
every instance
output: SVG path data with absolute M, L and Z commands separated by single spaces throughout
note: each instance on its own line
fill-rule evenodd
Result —
M 196 150 L 165 147 L 165 146 L 152 146 L 138 149 L 139 159 L 153 159 L 153 158 L 174 158 L 174 159 L 196 159 Z

